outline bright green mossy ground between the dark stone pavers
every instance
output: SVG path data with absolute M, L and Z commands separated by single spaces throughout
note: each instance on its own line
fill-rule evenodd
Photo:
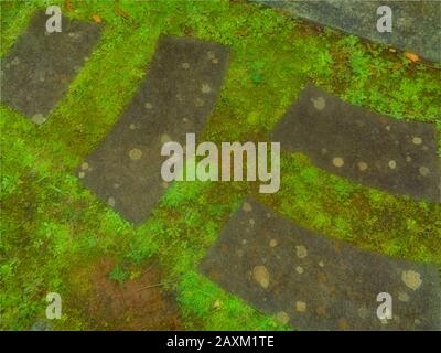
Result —
M 281 190 L 272 195 L 259 195 L 254 183 L 176 182 L 138 228 L 73 175 L 130 101 L 160 33 L 230 46 L 225 86 L 202 137 L 217 142 L 265 140 L 306 82 L 396 119 L 435 122 L 441 132 L 439 64 L 415 64 L 384 45 L 241 1 L 1 1 L 1 55 L 36 8 L 54 3 L 73 18 L 98 14 L 105 30 L 43 126 L 0 108 L 0 328 L 29 329 L 44 317 L 47 292 L 68 298 L 80 286 L 69 276 L 107 256 L 119 261 L 116 280 L 140 276 L 158 258 L 186 329 L 288 329 L 197 271 L 249 193 L 330 237 L 441 268 L 440 205 L 356 185 L 302 154 L 282 157 Z M 55 329 L 87 329 L 77 309 L 64 307 Z

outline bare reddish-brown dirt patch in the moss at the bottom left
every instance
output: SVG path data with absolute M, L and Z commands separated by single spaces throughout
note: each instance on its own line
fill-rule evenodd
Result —
M 116 261 L 100 259 L 83 270 L 83 284 L 72 297 L 90 330 L 179 330 L 180 311 L 173 293 L 164 292 L 154 264 L 136 279 L 120 284 L 110 279 Z M 74 287 L 75 288 L 75 287 Z

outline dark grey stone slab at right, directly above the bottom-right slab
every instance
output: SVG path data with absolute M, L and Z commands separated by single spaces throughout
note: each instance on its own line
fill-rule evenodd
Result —
M 337 175 L 396 195 L 441 202 L 432 124 L 387 118 L 306 85 L 276 126 L 272 140 Z

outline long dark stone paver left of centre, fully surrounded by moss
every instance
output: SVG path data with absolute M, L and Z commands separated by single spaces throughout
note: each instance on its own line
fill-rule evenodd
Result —
M 161 147 L 185 145 L 211 115 L 227 67 L 225 46 L 160 36 L 150 69 L 132 101 L 76 171 L 105 203 L 136 224 L 157 205 L 168 183 Z

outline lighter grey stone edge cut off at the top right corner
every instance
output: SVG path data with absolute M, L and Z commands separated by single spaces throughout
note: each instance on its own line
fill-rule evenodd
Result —
M 441 61 L 441 2 L 433 0 L 252 0 L 347 33 Z M 392 11 L 392 32 L 377 31 L 377 8 Z

